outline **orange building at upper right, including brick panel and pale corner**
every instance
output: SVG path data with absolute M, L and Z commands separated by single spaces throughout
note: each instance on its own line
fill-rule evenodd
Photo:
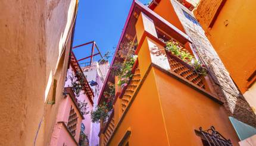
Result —
M 255 1 L 200 1 L 196 19 L 255 112 Z

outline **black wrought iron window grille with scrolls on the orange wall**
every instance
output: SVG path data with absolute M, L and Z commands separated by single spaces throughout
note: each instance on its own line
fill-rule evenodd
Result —
M 230 139 L 224 138 L 218 131 L 215 130 L 214 126 L 204 131 L 202 127 L 199 128 L 199 132 L 202 134 L 202 140 L 204 145 L 210 146 L 232 146 Z

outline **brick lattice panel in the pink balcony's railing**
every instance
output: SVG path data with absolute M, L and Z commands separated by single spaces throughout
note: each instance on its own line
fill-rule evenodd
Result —
M 68 117 L 67 128 L 71 132 L 73 137 L 76 135 L 77 119 L 78 119 L 77 114 L 76 112 L 74 112 L 74 108 L 71 106 L 69 117 Z

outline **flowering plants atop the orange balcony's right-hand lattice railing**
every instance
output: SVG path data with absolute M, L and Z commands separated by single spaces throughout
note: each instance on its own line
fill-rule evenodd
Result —
M 182 45 L 178 42 L 171 39 L 170 41 L 166 42 L 166 50 L 171 52 L 173 55 L 178 56 L 182 61 L 186 62 L 187 64 L 191 65 L 193 71 L 198 73 L 199 75 L 206 76 L 207 69 L 201 62 L 197 61 L 191 53 L 188 52 Z

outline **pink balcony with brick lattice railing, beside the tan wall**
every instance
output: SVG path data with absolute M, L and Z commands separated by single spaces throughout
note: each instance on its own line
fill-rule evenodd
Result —
M 71 87 L 64 88 L 50 145 L 79 145 L 80 125 L 83 115 Z

